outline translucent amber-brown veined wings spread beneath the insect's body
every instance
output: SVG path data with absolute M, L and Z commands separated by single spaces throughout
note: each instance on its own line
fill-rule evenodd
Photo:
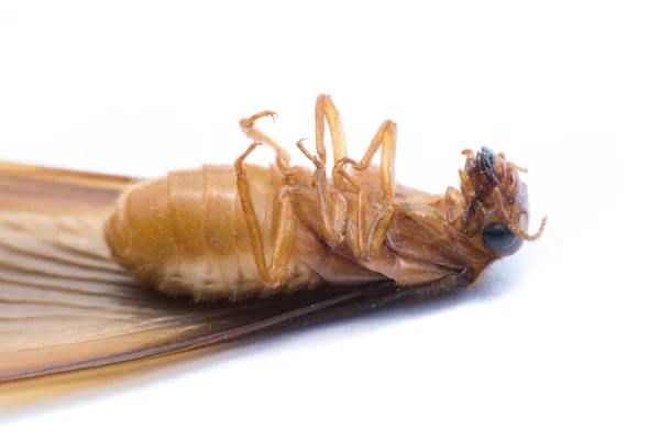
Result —
M 209 346 L 408 294 L 377 285 L 235 305 L 151 292 L 111 260 L 102 238 L 132 182 L 0 163 L 0 382 Z

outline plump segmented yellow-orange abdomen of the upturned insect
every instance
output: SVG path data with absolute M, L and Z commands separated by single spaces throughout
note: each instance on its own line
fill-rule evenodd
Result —
M 246 174 L 270 261 L 282 175 L 275 168 L 257 166 L 246 166 Z M 310 240 L 306 231 L 299 235 Z M 106 239 L 120 264 L 167 293 L 240 299 L 319 282 L 317 273 L 294 254 L 283 286 L 277 290 L 264 287 L 232 166 L 173 172 L 136 185 L 119 199 Z

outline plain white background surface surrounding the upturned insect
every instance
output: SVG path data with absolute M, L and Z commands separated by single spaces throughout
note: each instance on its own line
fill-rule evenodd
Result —
M 431 4 L 0 2 L 2 161 L 228 163 L 240 118 L 277 111 L 293 147 L 327 92 L 351 155 L 392 118 L 398 180 L 442 193 L 487 145 L 549 216 L 460 299 L 10 410 L 0 438 L 658 438 L 658 11 Z

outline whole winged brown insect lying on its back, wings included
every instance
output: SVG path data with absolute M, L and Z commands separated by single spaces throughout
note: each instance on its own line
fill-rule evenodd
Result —
M 316 154 L 297 143 L 305 168 L 254 127 L 272 114 L 241 121 L 254 142 L 233 166 L 156 180 L 0 163 L 0 382 L 448 290 L 542 233 L 544 219 L 527 232 L 524 170 L 502 154 L 463 152 L 460 189 L 433 196 L 395 186 L 392 121 L 355 161 L 320 96 Z M 245 163 L 262 145 L 275 151 L 270 168 Z

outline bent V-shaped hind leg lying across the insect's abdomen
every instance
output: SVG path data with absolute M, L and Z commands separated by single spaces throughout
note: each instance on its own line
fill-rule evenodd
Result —
M 254 206 L 252 204 L 250 185 L 248 184 L 248 179 L 245 178 L 245 169 L 243 168 L 243 162 L 250 155 L 250 153 L 256 148 L 257 145 L 260 144 L 256 142 L 252 143 L 245 153 L 243 153 L 234 162 L 234 168 L 237 172 L 239 198 L 241 199 L 245 223 L 248 223 L 248 233 L 250 234 L 252 252 L 254 253 L 254 260 L 260 278 L 265 286 L 275 288 L 279 286 L 286 275 L 286 267 L 292 255 L 292 248 L 296 237 L 296 216 L 294 215 L 293 206 L 288 195 L 289 187 L 285 186 L 279 194 L 280 209 L 279 216 L 277 217 L 275 223 L 273 257 L 270 266 L 266 266 L 264 243 L 258 229 L 258 223 L 256 221 Z

